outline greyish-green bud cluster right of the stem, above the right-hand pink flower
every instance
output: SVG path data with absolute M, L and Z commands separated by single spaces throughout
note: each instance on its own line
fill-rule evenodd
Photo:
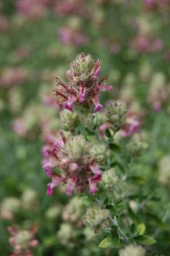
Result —
M 118 131 L 125 121 L 125 114 L 127 111 L 126 105 L 121 102 L 113 102 L 107 109 L 108 121 L 112 125 L 114 131 Z

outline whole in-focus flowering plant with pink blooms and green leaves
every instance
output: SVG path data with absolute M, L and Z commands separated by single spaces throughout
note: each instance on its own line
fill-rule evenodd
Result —
M 155 239 L 145 235 L 145 223 L 138 219 L 145 201 L 133 199 L 141 193 L 137 185 L 142 177 L 131 169 L 147 143 L 141 122 L 135 114 L 126 114 L 124 103 L 110 102 L 106 108 L 100 104 L 100 91 L 112 87 L 107 86 L 107 77 L 99 76 L 100 60 L 81 53 L 66 73 L 68 83 L 56 78 L 54 94 L 63 110 L 61 128 L 46 137 L 42 148 L 43 169 L 51 179 L 47 194 L 59 184 L 66 186 L 68 196 L 80 193 L 87 206 L 83 223 L 97 234 L 107 234 L 99 247 L 130 244 L 127 250 L 135 252 L 139 244 L 145 254 L 140 244 L 151 245 Z

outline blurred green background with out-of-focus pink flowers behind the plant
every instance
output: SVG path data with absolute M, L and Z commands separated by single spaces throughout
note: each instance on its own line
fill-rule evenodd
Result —
M 68 199 L 62 187 L 46 196 L 41 148 L 59 127 L 55 77 L 64 80 L 81 52 L 102 61 L 101 75 L 114 87 L 101 101 L 125 101 L 151 139 L 135 168 L 162 183 L 155 214 L 162 231 L 154 246 L 157 255 L 169 255 L 169 27 L 169 0 L 0 0 L 2 256 L 12 251 L 12 225 L 29 233 L 37 226 L 33 255 L 118 255 L 97 247 L 97 235 L 82 223 L 86 207 L 78 196 Z M 166 227 L 160 223 L 164 208 Z

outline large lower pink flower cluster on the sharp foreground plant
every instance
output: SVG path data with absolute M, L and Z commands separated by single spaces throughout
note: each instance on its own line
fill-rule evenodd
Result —
M 82 135 L 66 139 L 49 138 L 42 148 L 44 161 L 43 168 L 46 175 L 52 178 L 48 184 L 47 194 L 53 193 L 53 188 L 59 183 L 66 183 L 66 194 L 71 195 L 73 189 L 83 192 L 90 187 L 90 193 L 97 192 L 97 183 L 101 179 L 101 170 L 96 159 L 90 154 L 92 145 Z M 53 168 L 61 170 L 56 174 Z

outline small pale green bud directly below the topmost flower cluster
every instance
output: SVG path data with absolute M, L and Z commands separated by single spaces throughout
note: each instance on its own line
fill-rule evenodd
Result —
M 80 124 L 79 115 L 66 109 L 60 113 L 61 127 L 63 130 L 72 131 Z

